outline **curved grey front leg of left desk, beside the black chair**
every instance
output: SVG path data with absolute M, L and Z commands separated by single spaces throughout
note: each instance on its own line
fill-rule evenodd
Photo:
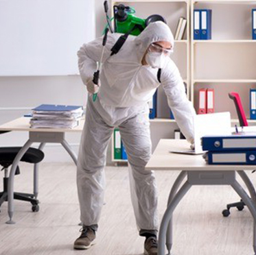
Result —
M 14 158 L 14 161 L 12 162 L 12 168 L 10 170 L 9 181 L 8 181 L 8 215 L 10 217 L 10 220 L 6 221 L 7 224 L 15 223 L 14 221 L 12 221 L 12 216 L 14 213 L 14 175 L 21 158 L 23 157 L 27 149 L 29 149 L 30 145 L 32 145 L 32 141 L 28 139 L 25 145 L 23 145 L 19 153 Z

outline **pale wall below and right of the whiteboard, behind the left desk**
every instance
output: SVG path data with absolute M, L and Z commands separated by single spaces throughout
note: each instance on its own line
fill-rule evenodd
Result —
M 95 1 L 95 22 L 96 36 L 101 36 L 106 23 L 103 1 Z M 21 117 L 40 104 L 86 105 L 86 88 L 78 75 L 0 77 L 0 88 L 0 124 Z M 175 123 L 152 123 L 153 149 L 159 138 L 171 138 L 175 128 Z M 0 146 L 21 146 L 27 138 L 27 132 L 1 134 Z M 66 138 L 78 152 L 80 134 L 67 134 Z M 47 144 L 44 151 L 46 162 L 71 162 L 61 145 Z M 110 148 L 107 162 L 110 163 Z

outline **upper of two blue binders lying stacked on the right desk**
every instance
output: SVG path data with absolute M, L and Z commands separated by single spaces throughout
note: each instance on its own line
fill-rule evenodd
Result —
M 256 150 L 256 134 L 231 134 L 227 136 L 202 136 L 203 151 Z

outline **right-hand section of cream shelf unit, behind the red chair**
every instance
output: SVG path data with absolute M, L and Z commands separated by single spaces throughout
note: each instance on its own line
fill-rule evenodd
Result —
M 191 101 L 198 109 L 200 88 L 214 88 L 215 111 L 231 112 L 238 123 L 229 92 L 240 93 L 249 120 L 249 90 L 256 88 L 256 40 L 251 39 L 252 0 L 191 1 Z M 212 40 L 194 40 L 194 9 L 212 10 Z

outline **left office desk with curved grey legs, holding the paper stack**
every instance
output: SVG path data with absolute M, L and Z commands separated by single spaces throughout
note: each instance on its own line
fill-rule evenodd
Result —
M 40 143 L 38 149 L 43 149 L 45 143 L 60 143 L 69 153 L 75 165 L 77 164 L 77 156 L 75 152 L 71 149 L 67 141 L 65 140 L 66 132 L 82 132 L 84 126 L 84 119 L 82 119 L 77 127 L 73 129 L 68 128 L 30 128 L 30 118 L 21 117 L 10 121 L 3 125 L 0 125 L 0 131 L 25 131 L 29 132 L 29 139 L 23 145 L 19 154 L 17 154 L 14 162 L 12 164 L 9 182 L 8 182 L 8 215 L 10 220 L 6 223 L 13 224 L 12 217 L 14 214 L 14 175 L 16 167 L 19 164 L 19 161 L 27 151 L 27 149 L 32 145 L 32 143 Z M 38 164 L 34 165 L 34 195 L 38 195 Z

